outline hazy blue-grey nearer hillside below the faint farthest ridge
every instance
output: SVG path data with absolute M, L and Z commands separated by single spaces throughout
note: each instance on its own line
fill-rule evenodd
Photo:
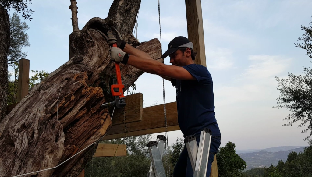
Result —
M 290 150 L 280 150 L 280 149 L 289 149 L 286 147 L 299 147 Z M 271 164 L 277 165 L 279 160 L 283 160 L 285 162 L 287 160 L 287 156 L 291 151 L 302 152 L 304 147 L 307 146 L 281 146 L 275 148 L 267 148 L 266 150 L 261 150 L 258 152 L 248 152 L 248 153 L 237 153 L 245 162 L 247 163 L 247 170 L 255 167 L 269 167 Z M 270 152 L 271 151 L 271 152 Z M 274 152 L 272 152 L 274 151 Z

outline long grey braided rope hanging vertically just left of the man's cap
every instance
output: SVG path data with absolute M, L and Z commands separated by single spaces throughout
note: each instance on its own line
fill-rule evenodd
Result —
M 160 25 L 160 3 L 158 0 L 158 17 L 159 17 L 159 31 L 160 31 L 160 46 L 162 46 L 162 41 L 161 41 L 161 25 Z M 169 155 L 169 143 L 168 143 L 168 129 L 167 129 L 167 113 L 166 113 L 166 101 L 165 101 L 165 83 L 163 79 L 163 113 L 165 117 L 165 136 L 167 138 L 167 142 L 165 144 L 165 150 L 166 150 L 166 169 L 167 169 L 167 176 L 170 174 L 170 166 L 169 166 L 169 160 L 168 160 L 168 155 Z M 168 174 L 168 166 L 169 166 L 169 174 Z

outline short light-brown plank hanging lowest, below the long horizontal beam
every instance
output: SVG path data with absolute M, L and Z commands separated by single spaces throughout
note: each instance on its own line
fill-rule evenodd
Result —
M 112 157 L 126 155 L 126 145 L 99 143 L 93 157 Z

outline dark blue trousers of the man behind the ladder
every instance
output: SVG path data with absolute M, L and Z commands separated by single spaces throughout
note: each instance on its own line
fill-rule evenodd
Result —
M 199 145 L 200 133 L 195 136 L 196 136 L 197 145 Z M 212 136 L 210 150 L 209 150 L 209 158 L 208 158 L 208 167 L 207 167 L 207 175 L 206 175 L 207 177 L 209 177 L 210 175 L 213 158 L 214 158 L 214 155 L 217 153 L 217 150 L 219 149 L 220 145 L 221 145 L 221 136 Z M 193 177 L 193 169 L 192 169 L 191 161 L 188 156 L 188 151 L 185 145 L 178 159 L 178 162 L 174 167 L 173 177 Z

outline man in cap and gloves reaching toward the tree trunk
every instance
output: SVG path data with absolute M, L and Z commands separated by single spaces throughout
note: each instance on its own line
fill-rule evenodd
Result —
M 169 56 L 172 66 L 165 65 L 126 43 L 115 27 L 112 29 L 113 31 L 108 32 L 108 42 L 110 46 L 117 43 L 117 47 L 110 48 L 111 60 L 157 74 L 175 86 L 178 123 L 184 137 L 195 135 L 198 145 L 201 129 L 206 127 L 212 131 L 207 167 L 209 176 L 214 155 L 220 146 L 221 133 L 214 112 L 212 77 L 205 66 L 194 63 L 196 53 L 193 52 L 193 43 L 186 37 L 174 38 L 169 42 L 168 50 L 161 56 Z M 174 167 L 173 176 L 193 176 L 185 146 Z

